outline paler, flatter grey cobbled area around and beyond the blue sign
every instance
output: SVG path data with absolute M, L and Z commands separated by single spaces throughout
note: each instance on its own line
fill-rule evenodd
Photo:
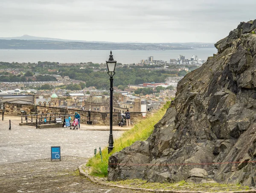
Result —
M 6 124 L 3 124 L 7 122 Z M 94 149 L 108 145 L 109 131 L 70 130 L 69 128 L 35 129 L 18 126 L 20 121 L 0 121 L 0 164 L 49 158 L 51 146 L 61 146 L 62 156 L 90 158 Z M 118 138 L 123 132 L 113 132 Z

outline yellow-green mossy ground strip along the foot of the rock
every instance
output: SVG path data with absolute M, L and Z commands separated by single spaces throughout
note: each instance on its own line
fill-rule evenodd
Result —
M 122 185 L 136 188 L 147 188 L 153 190 L 177 190 L 177 191 L 207 191 L 207 192 L 223 192 L 223 191 L 241 191 L 250 190 L 248 186 L 241 186 L 240 184 L 218 184 L 218 183 L 201 183 L 194 184 L 186 181 L 179 181 L 175 183 L 157 183 L 147 182 L 141 179 L 132 179 L 124 181 L 111 181 L 110 184 Z

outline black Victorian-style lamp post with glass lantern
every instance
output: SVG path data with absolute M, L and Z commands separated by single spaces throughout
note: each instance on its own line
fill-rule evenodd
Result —
M 108 153 L 111 153 L 113 150 L 113 134 L 112 134 L 112 127 L 113 127 L 113 75 L 116 74 L 116 61 L 113 59 L 112 51 L 110 51 L 109 59 L 106 61 L 108 66 L 108 75 L 110 76 L 110 134 L 108 139 Z

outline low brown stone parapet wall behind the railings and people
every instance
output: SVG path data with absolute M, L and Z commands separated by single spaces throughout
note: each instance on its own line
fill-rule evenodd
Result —
M 28 105 L 28 104 L 12 104 L 5 103 L 4 111 L 5 115 L 21 115 L 21 110 L 30 114 L 44 114 L 44 113 L 64 113 L 75 115 L 75 112 L 81 116 L 81 123 L 87 123 L 89 121 L 88 111 L 76 110 L 76 109 L 63 109 L 58 107 L 44 107 L 39 105 Z M 141 112 L 131 112 L 131 121 L 136 123 L 142 118 Z M 73 120 L 73 118 L 72 118 Z M 109 112 L 93 112 L 91 111 L 90 120 L 94 125 L 109 125 L 110 113 Z M 113 125 L 118 125 L 120 121 L 120 112 L 113 112 Z

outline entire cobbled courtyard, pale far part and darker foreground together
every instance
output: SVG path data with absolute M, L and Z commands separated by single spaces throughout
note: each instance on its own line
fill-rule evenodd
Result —
M 95 148 L 108 145 L 109 131 L 35 129 L 18 126 L 19 122 L 15 118 L 0 122 L 0 193 L 142 192 L 94 184 L 76 172 Z M 113 132 L 114 139 L 122 133 Z M 50 160 L 51 146 L 61 146 L 61 161 Z

